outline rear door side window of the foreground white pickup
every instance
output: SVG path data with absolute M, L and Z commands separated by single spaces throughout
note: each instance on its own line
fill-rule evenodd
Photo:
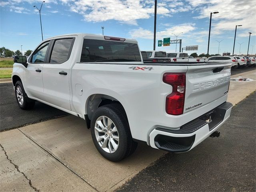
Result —
M 73 38 L 55 40 L 50 63 L 63 63 L 68 60 L 73 44 Z

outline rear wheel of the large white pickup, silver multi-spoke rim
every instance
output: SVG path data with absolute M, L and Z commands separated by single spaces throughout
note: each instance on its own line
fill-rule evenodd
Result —
M 91 134 L 97 150 L 110 161 L 128 157 L 137 147 L 132 140 L 125 111 L 118 103 L 101 106 L 95 111 Z

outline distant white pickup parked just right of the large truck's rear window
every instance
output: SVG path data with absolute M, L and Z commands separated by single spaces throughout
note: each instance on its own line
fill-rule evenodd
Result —
M 152 62 L 170 62 L 165 51 L 141 51 L 143 61 Z

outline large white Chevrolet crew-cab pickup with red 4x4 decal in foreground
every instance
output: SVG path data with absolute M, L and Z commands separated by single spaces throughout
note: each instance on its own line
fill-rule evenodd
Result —
M 186 152 L 229 118 L 230 62 L 143 62 L 136 40 L 68 34 L 15 56 L 12 83 L 21 109 L 39 101 L 86 120 L 111 161 L 138 141 Z

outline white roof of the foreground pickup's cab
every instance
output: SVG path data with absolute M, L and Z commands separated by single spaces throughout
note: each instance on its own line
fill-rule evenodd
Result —
M 45 40 L 50 40 L 50 39 L 59 38 L 59 37 L 66 37 L 66 36 L 74 36 L 74 35 L 82 36 L 83 38 L 96 39 L 96 40 L 105 40 L 104 37 L 106 36 L 106 35 L 95 35 L 95 34 L 89 34 L 89 33 L 71 33 L 71 34 L 63 34 L 63 35 L 50 37 Z M 106 37 L 113 37 L 113 36 L 106 36 Z M 114 37 L 114 38 L 122 38 L 122 37 Z M 124 38 L 124 39 L 125 39 L 125 42 L 128 42 L 128 43 L 137 43 L 137 40 L 135 39 L 128 39 L 128 38 Z

